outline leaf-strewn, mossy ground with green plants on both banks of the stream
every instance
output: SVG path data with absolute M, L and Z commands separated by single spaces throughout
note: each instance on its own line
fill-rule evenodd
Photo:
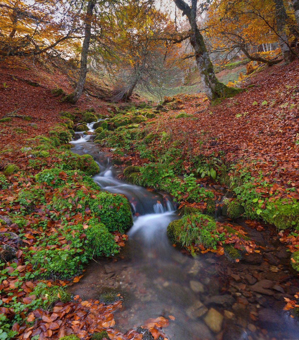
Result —
M 175 322 L 157 315 L 123 334 L 113 317 L 125 304 L 120 294 L 70 294 L 92 259 L 122 255 L 134 203 L 94 183 L 92 156 L 71 152 L 76 132 L 93 135 L 120 179 L 171 195 L 179 219 L 167 235 L 185 256 L 209 252 L 237 264 L 263 256 L 273 267 L 243 227 L 214 219 L 220 209 L 280 242 L 296 277 L 298 66 L 256 68 L 240 83 L 242 92 L 212 102 L 198 93 L 113 103 L 85 92 L 72 105 L 62 101 L 72 89 L 63 72 L 17 57 L 1 62 L 0 339 L 167 339 L 164 327 Z M 87 83 L 98 89 L 99 82 Z M 299 297 L 288 286 L 278 299 L 296 319 Z

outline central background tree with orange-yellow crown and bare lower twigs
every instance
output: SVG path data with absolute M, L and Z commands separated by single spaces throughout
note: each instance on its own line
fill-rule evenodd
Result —
M 174 30 L 173 22 L 147 3 L 131 3 L 121 12 L 114 39 L 118 62 L 112 68 L 113 100 L 128 100 L 136 87 L 161 97 L 174 61 L 173 45 L 163 37 Z

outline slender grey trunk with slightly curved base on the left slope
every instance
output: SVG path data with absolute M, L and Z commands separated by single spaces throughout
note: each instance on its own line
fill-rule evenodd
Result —
M 89 48 L 90 35 L 91 35 L 91 29 L 92 29 L 92 16 L 93 16 L 93 10 L 94 10 L 95 4 L 96 4 L 96 0 L 91 0 L 91 1 L 88 1 L 87 3 L 87 10 L 86 10 L 86 16 L 85 16 L 84 40 L 83 40 L 82 51 L 81 51 L 79 79 L 77 82 L 76 89 L 74 90 L 72 94 L 68 96 L 68 99 L 67 99 L 67 101 L 72 104 L 75 104 L 78 101 L 84 89 L 86 73 L 87 73 L 88 48 Z

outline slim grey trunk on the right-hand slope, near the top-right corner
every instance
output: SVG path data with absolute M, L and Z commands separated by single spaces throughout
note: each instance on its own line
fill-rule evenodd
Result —
M 283 4 L 283 0 L 274 0 L 275 2 L 275 10 L 276 10 L 276 26 L 277 26 L 277 35 L 278 42 L 280 46 L 280 50 L 285 62 L 290 63 L 294 59 L 294 55 L 292 50 L 289 47 L 288 39 L 285 33 L 286 26 L 286 12 Z

